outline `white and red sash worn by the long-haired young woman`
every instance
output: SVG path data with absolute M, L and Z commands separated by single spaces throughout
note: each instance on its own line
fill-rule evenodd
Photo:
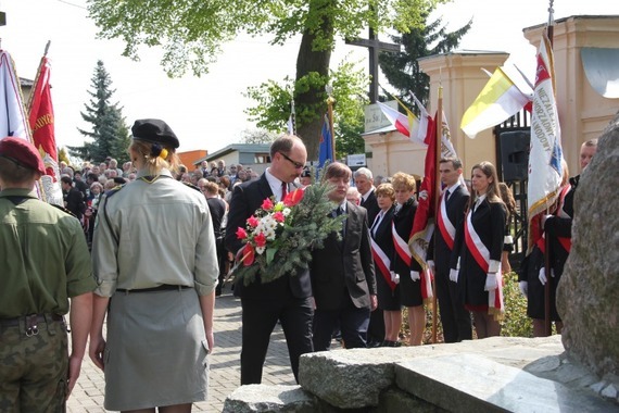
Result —
M 471 223 L 472 211 L 469 211 L 465 221 L 465 241 L 472 258 L 481 270 L 488 274 L 490 268 L 490 251 L 481 241 Z M 503 318 L 505 306 L 503 305 L 503 277 L 501 267 L 495 274 L 496 289 L 488 291 L 488 312 L 494 315 L 494 320 Z

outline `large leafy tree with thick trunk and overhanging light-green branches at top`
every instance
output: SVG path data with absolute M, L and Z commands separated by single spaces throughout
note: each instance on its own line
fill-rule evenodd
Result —
M 301 114 L 296 124 L 299 135 L 307 146 L 310 158 L 316 158 L 326 110 L 323 91 L 329 83 L 336 39 L 358 37 L 368 26 L 376 33 L 386 28 L 407 33 L 424 23 L 421 16 L 426 11 L 446 1 L 89 0 L 88 10 L 101 38 L 119 38 L 125 42 L 124 55 L 138 59 L 141 46 L 161 47 L 162 65 L 169 76 L 180 76 L 188 70 L 198 76 L 207 73 L 222 45 L 241 33 L 269 35 L 273 45 L 301 35 L 294 93 L 289 93 L 287 103 L 278 108 L 288 108 L 290 97 L 294 96 Z M 288 112 L 279 111 L 281 123 Z M 265 124 L 258 127 L 277 130 Z

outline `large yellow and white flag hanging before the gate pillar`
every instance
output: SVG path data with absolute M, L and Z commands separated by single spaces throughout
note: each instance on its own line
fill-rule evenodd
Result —
M 473 139 L 480 132 L 505 122 L 529 102 L 530 97 L 516 86 L 503 68 L 496 67 L 463 115 L 460 128 Z

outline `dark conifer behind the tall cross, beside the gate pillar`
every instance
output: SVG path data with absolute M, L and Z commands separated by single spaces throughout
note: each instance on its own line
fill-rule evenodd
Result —
M 431 11 L 422 12 L 424 22 Z M 420 27 L 408 27 L 408 30 L 391 36 L 393 42 L 404 47 L 404 51 L 380 53 L 379 65 L 389 84 L 397 89 L 400 99 L 409 109 L 414 111 L 417 109 L 409 91 L 413 91 L 426 108 L 430 97 L 430 77 L 419 70 L 417 60 L 456 49 L 471 24 L 472 20 L 457 30 L 447 33 L 445 26 L 442 25 L 442 20 L 439 18 Z

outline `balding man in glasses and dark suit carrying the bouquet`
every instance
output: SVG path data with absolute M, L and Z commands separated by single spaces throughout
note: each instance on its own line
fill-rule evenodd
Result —
M 303 171 L 307 151 L 300 138 L 285 135 L 270 146 L 270 167 L 258 179 L 238 185 L 232 193 L 225 243 L 235 254 L 243 247 L 236 236 L 237 228 L 245 228 L 247 218 L 266 198 L 275 196 L 281 200 L 293 189 L 292 183 Z M 310 273 L 286 275 L 266 284 L 262 284 L 258 274 L 248 286 L 243 279 L 237 279 L 235 295 L 241 298 L 242 306 L 241 385 L 261 383 L 270 334 L 278 321 L 298 379 L 300 355 L 313 351 Z

